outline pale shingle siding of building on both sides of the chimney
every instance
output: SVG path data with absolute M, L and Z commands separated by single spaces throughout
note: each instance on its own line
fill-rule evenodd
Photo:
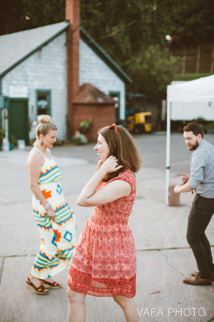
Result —
M 36 120 L 36 90 L 51 91 L 51 116 L 57 126 L 57 138 L 66 139 L 67 54 L 66 32 L 14 67 L 2 78 L 2 95 L 9 85 L 28 86 L 29 121 Z M 21 45 L 21 44 L 20 44 Z M 90 83 L 105 94 L 120 93 L 120 118 L 125 118 L 125 84 L 93 50 L 80 39 L 79 82 Z M 33 111 L 33 112 L 32 112 Z M 35 137 L 35 127 L 29 138 Z

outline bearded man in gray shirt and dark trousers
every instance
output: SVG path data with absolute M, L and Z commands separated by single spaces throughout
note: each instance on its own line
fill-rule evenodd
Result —
M 176 185 L 174 192 L 180 194 L 196 190 L 186 237 L 199 270 L 192 272 L 192 278 L 184 279 L 183 282 L 191 285 L 211 285 L 214 281 L 214 264 L 205 229 L 214 213 L 214 146 L 203 138 L 203 131 L 198 123 L 188 123 L 183 130 L 185 143 L 189 151 L 193 151 L 190 158 L 190 177 L 182 173 L 183 185 Z

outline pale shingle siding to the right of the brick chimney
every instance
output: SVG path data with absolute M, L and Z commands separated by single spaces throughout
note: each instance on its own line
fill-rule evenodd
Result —
M 125 84 L 110 67 L 80 39 L 80 85 L 90 83 L 105 94 L 120 92 L 120 118 L 125 118 Z

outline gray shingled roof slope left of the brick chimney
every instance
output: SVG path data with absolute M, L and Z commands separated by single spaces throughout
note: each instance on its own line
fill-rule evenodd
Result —
M 0 76 L 51 41 L 68 26 L 69 23 L 63 21 L 0 36 Z

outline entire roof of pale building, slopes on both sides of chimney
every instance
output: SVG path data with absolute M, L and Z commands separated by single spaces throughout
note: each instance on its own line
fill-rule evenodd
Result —
M 30 30 L 10 33 L 0 36 L 0 77 L 13 69 L 20 62 L 49 43 L 69 26 L 69 22 L 63 21 L 58 24 L 50 24 Z M 100 58 L 124 81 L 132 80 L 124 71 L 107 55 L 98 44 L 80 28 L 83 41 L 96 52 Z

